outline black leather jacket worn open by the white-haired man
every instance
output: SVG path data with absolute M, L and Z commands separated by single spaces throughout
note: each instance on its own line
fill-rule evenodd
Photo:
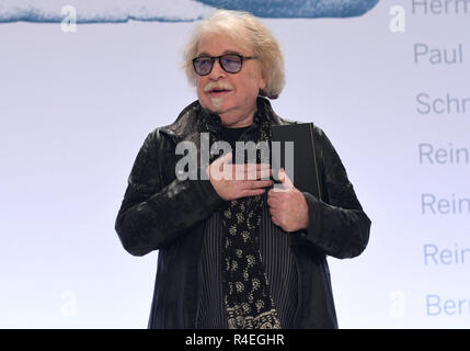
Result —
M 289 124 L 267 100 L 271 123 Z M 175 177 L 176 143 L 196 139 L 197 101 L 177 120 L 157 128 L 137 155 L 115 229 L 134 256 L 159 250 L 149 328 L 194 328 L 197 308 L 198 262 L 205 219 L 223 205 L 208 180 Z M 296 328 L 337 328 L 326 256 L 352 258 L 366 248 L 370 219 L 356 199 L 346 171 L 324 133 L 319 140 L 323 202 L 303 193 L 309 206 L 308 230 L 287 234 L 296 258 L 298 310 Z

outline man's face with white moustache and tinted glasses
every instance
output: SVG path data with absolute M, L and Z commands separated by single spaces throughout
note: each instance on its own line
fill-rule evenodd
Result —
M 236 45 L 232 39 L 221 34 L 206 35 L 199 42 L 197 56 L 225 54 L 253 56 L 251 50 Z M 265 82 L 256 59 L 244 60 L 238 73 L 226 72 L 216 60 L 210 73 L 197 76 L 196 86 L 197 97 L 205 109 L 217 113 L 225 126 L 242 127 L 251 125 L 256 110 L 256 98 Z

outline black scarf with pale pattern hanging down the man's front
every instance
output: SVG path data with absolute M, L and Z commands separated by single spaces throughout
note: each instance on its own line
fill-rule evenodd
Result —
M 259 99 L 254 115 L 257 125 L 255 143 L 271 140 L 266 113 L 264 102 Z M 198 127 L 199 132 L 209 133 L 210 145 L 220 140 L 220 126 L 218 115 L 203 110 Z M 210 156 L 210 162 L 218 157 Z M 256 155 L 256 162 L 261 162 L 260 155 Z M 256 195 L 232 200 L 220 210 L 223 230 L 223 302 L 230 329 L 280 328 L 257 242 L 265 205 L 266 196 Z

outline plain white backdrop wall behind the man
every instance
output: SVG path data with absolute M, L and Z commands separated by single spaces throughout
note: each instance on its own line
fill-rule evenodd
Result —
M 389 29 L 396 4 L 404 33 Z M 286 59 L 275 111 L 325 131 L 372 220 L 360 257 L 329 259 L 342 328 L 470 325 L 470 208 L 422 203 L 470 199 L 470 161 L 420 163 L 419 152 L 470 154 L 470 100 L 427 114 L 416 101 L 470 99 L 470 3 L 415 10 L 381 1 L 359 18 L 263 20 Z M 180 69 L 193 26 L 0 24 L 0 327 L 147 326 L 158 253 L 125 252 L 114 220 L 147 134 L 196 99 Z M 462 63 L 416 64 L 415 44 L 448 58 L 460 44 Z M 426 245 L 449 251 L 426 264 Z

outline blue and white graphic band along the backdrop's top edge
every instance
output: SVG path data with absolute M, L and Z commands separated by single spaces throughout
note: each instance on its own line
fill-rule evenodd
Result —
M 348 18 L 363 15 L 379 0 L 1 0 L 0 23 L 60 23 L 62 8 L 76 9 L 77 23 L 128 21 L 191 22 L 216 9 L 249 11 L 260 18 Z

